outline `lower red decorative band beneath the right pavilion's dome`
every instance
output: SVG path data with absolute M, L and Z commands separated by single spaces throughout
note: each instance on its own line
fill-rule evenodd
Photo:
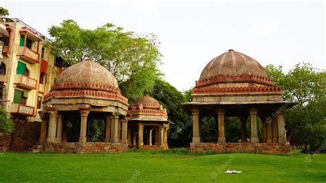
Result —
M 282 92 L 279 86 L 263 87 L 195 87 L 194 94 Z

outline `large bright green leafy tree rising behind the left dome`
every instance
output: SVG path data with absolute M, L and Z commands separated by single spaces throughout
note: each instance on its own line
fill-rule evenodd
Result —
M 116 77 L 122 94 L 132 102 L 144 92 L 151 92 L 154 80 L 162 76 L 157 68 L 162 54 L 154 34 L 137 35 L 107 23 L 95 30 L 80 28 L 73 20 L 65 20 L 49 29 L 54 38 L 49 43 L 54 56 L 64 64 L 93 60 Z

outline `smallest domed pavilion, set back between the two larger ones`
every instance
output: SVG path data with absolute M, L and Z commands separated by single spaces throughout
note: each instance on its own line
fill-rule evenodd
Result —
M 168 116 L 166 109 L 155 98 L 149 95 L 138 98 L 129 106 L 128 114 L 129 147 L 139 149 L 169 148 L 167 142 Z M 145 143 L 144 136 L 146 137 Z

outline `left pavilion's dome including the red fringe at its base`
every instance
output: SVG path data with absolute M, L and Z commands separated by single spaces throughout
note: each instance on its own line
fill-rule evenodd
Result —
M 116 78 L 102 65 L 83 61 L 67 67 L 56 79 L 52 90 L 93 89 L 120 92 Z

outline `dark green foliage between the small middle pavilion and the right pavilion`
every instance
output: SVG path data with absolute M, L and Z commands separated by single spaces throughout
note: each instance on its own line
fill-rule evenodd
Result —
M 150 95 L 166 108 L 169 120 L 171 120 L 168 136 L 169 146 L 188 146 L 192 139 L 193 122 L 181 106 L 181 103 L 186 102 L 182 92 L 177 91 L 166 81 L 157 79 Z

